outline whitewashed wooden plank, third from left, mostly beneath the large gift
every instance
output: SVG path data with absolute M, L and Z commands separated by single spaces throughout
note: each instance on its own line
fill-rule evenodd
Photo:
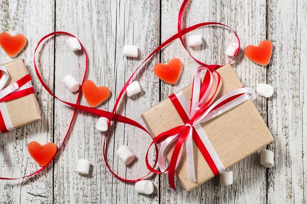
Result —
M 163 2 L 161 38 L 166 40 L 177 32 L 178 10 L 181 1 Z M 171 9 L 169 9 L 171 8 Z M 195 23 L 217 21 L 232 27 L 240 39 L 243 47 L 247 44 L 257 44 L 266 38 L 266 1 L 241 2 L 229 1 L 227 4 L 218 1 L 192 2 L 186 7 L 183 26 L 188 27 Z M 188 35 L 201 34 L 204 36 L 200 48 L 189 49 L 194 57 L 207 64 L 221 63 L 229 60 L 224 50 L 230 42 L 235 42 L 233 33 L 224 28 L 204 28 L 191 32 Z M 196 64 L 177 40 L 162 52 L 162 62 L 166 63 L 172 57 L 180 58 L 184 69 L 178 84 L 171 86 L 162 83 L 162 98 L 192 83 Z M 245 86 L 254 87 L 260 82 L 266 82 L 266 68 L 258 66 L 244 58 L 242 52 L 234 64 L 238 77 Z M 266 118 L 266 101 L 258 97 L 256 106 Z M 168 186 L 167 176 L 162 176 L 161 202 L 162 203 L 265 203 L 266 202 L 266 169 L 259 165 L 257 154 L 235 164 L 230 170 L 234 173 L 234 184 L 221 187 L 218 178 L 214 178 L 200 187 L 186 192 L 177 183 L 177 191 Z

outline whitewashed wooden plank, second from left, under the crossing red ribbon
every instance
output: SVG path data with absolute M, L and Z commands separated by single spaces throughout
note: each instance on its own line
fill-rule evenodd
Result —
M 150 11 L 150 12 L 149 12 Z M 112 96 L 98 108 L 111 111 L 116 96 L 141 59 L 159 44 L 159 2 L 140 1 L 96 1 L 96 2 L 56 2 L 56 30 L 65 30 L 76 34 L 89 54 L 89 74 L 87 79 L 97 85 L 109 87 Z M 63 99 L 74 101 L 71 94 L 61 83 L 66 74 L 72 74 L 81 80 L 84 57 L 74 54 L 64 44 L 65 37 L 57 37 L 56 42 L 56 94 Z M 138 59 L 122 56 L 124 44 L 136 44 L 140 48 Z M 78 58 L 79 57 L 79 58 Z M 148 68 L 138 74 L 143 92 L 137 96 L 123 99 L 118 113 L 141 121 L 142 111 L 159 101 L 159 82 L 153 77 L 151 67 L 159 58 L 153 59 Z M 142 77 L 142 78 L 141 78 Z M 148 80 L 148 81 L 147 81 Z M 150 83 L 148 83 L 150 82 Z M 150 91 L 147 91 L 150 90 Z M 83 105 L 86 102 L 82 100 Z M 126 104 L 126 107 L 125 107 Z M 67 129 L 72 110 L 55 103 L 55 141 L 59 143 Z M 117 180 L 105 167 L 102 156 L 104 134 L 95 129 L 98 117 L 78 113 L 74 129 L 60 157 L 56 158 L 54 169 L 55 203 L 143 203 L 158 202 L 158 191 L 150 196 L 138 195 L 134 184 Z M 144 132 L 128 125 L 114 124 L 108 140 L 107 158 L 111 167 L 121 176 L 136 178 L 146 172 L 145 151 L 151 139 Z M 128 167 L 116 156 L 116 150 L 127 144 L 137 160 Z M 142 145 L 140 145 L 142 144 Z M 74 172 L 78 159 L 87 159 L 92 163 L 92 171 L 87 176 Z M 150 155 L 152 159 L 152 154 Z M 142 170 L 139 170 L 142 169 Z M 159 186 L 159 177 L 153 180 Z

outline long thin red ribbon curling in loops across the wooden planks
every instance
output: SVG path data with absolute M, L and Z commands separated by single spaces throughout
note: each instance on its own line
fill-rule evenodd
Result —
M 182 6 L 181 6 L 181 9 L 180 9 L 180 12 L 179 12 L 179 18 L 178 18 L 178 33 L 175 34 L 175 35 L 173 35 L 173 36 L 170 37 L 169 39 L 167 39 L 167 40 L 166 40 L 165 42 L 163 42 L 161 45 L 159 45 L 159 46 L 158 46 L 155 50 L 153 50 L 153 52 L 150 53 L 149 56 L 146 57 L 146 59 L 136 68 L 136 70 L 133 72 L 133 74 L 131 74 L 130 78 L 127 80 L 127 82 L 126 82 L 125 85 L 123 86 L 122 90 L 120 91 L 120 93 L 119 93 L 119 95 L 118 95 L 118 97 L 117 97 L 117 99 L 116 99 L 116 103 L 115 103 L 115 105 L 114 105 L 114 108 L 113 108 L 112 112 L 107 112 L 107 111 L 103 111 L 103 110 L 99 110 L 99 109 L 95 109 L 95 108 L 90 108 L 90 107 L 85 107 L 85 106 L 79 105 L 80 96 L 81 96 L 81 91 L 79 91 L 79 93 L 78 93 L 77 101 L 76 101 L 75 104 L 72 104 L 72 103 L 69 103 L 69 102 L 67 102 L 67 101 L 61 100 L 61 99 L 59 99 L 56 95 L 54 95 L 54 94 L 52 93 L 52 91 L 47 87 L 47 85 L 45 84 L 45 82 L 43 82 L 43 80 L 42 80 L 42 78 L 41 78 L 41 76 L 40 76 L 40 74 L 39 74 L 39 71 L 38 71 L 38 69 L 37 69 L 36 62 L 35 62 L 35 53 L 36 53 L 37 48 L 38 48 L 38 46 L 40 45 L 40 43 L 41 43 L 43 40 L 45 40 L 46 38 L 50 37 L 50 36 L 57 35 L 57 34 L 65 34 L 65 35 L 69 35 L 69 36 L 72 36 L 72 37 L 75 37 L 75 36 L 72 35 L 72 34 L 70 34 L 70 33 L 67 33 L 67 32 L 52 32 L 52 33 L 50 33 L 50 34 L 44 36 L 41 40 L 39 40 L 39 42 L 38 42 L 38 44 L 37 44 L 37 46 L 36 46 L 36 48 L 35 48 L 35 51 L 34 51 L 34 68 L 35 68 L 35 71 L 36 71 L 38 80 L 40 81 L 41 85 L 49 92 L 49 94 L 51 94 L 51 95 L 52 95 L 53 97 L 55 97 L 56 99 L 60 100 L 62 103 L 67 104 L 68 106 L 71 106 L 71 107 L 74 108 L 74 113 L 73 113 L 73 116 L 72 116 L 70 125 L 69 125 L 69 127 L 68 127 L 67 133 L 65 134 L 65 136 L 64 136 L 64 138 L 63 138 L 63 141 L 62 141 L 62 143 L 61 143 L 61 145 L 59 146 L 58 149 L 61 149 L 61 147 L 62 147 L 64 141 L 65 141 L 65 140 L 67 139 L 67 137 L 68 137 L 68 134 L 69 134 L 70 129 L 71 129 L 71 127 L 72 127 L 72 124 L 73 124 L 73 121 L 74 121 L 74 118 L 75 118 L 77 109 L 78 109 L 78 110 L 85 111 L 85 112 L 88 112 L 88 113 L 92 113 L 92 114 L 95 114 L 95 115 L 99 115 L 99 116 L 102 116 L 102 117 L 107 117 L 107 118 L 109 118 L 109 120 L 116 120 L 116 121 L 118 121 L 118 122 L 123 122 L 123 123 L 127 123 L 127 124 L 130 124 L 130 125 L 133 125 L 133 126 L 135 126 L 135 127 L 138 127 L 139 129 L 145 131 L 148 135 L 150 135 L 150 134 L 148 133 L 148 131 L 145 129 L 145 127 L 143 127 L 143 126 L 142 126 L 141 124 L 139 124 L 138 122 L 136 122 L 136 121 L 134 121 L 134 120 L 131 120 L 131 119 L 127 118 L 127 117 L 124 117 L 124 116 L 115 114 L 116 108 L 117 108 L 118 105 L 119 105 L 119 102 L 120 102 L 120 100 L 121 100 L 121 98 L 122 98 L 122 95 L 123 95 L 123 93 L 124 93 L 126 87 L 129 85 L 129 82 L 130 82 L 131 79 L 134 77 L 134 75 L 135 75 L 136 72 L 139 70 L 139 68 L 140 68 L 149 58 L 151 58 L 154 54 L 156 54 L 157 52 L 159 52 L 160 49 L 162 49 L 163 47 L 165 47 L 166 45 L 168 45 L 168 44 L 169 44 L 170 42 L 172 42 L 173 40 L 176 40 L 177 38 L 179 38 L 179 39 L 181 40 L 183 46 L 185 47 L 185 45 L 184 45 L 184 43 L 183 43 L 183 40 L 182 40 L 182 35 L 185 35 L 185 34 L 191 32 L 191 31 L 193 31 L 193 30 L 195 30 L 195 29 L 198 29 L 198 28 L 200 28 L 200 27 L 204 27 L 204 26 L 207 26 L 207 25 L 222 25 L 222 26 L 225 26 L 225 27 L 231 29 L 230 27 L 228 27 L 227 25 L 225 25 L 225 24 L 223 24 L 223 23 L 218 23 L 218 22 L 203 22 L 203 23 L 198 23 L 198 24 L 192 25 L 192 26 L 189 27 L 189 28 L 186 28 L 186 29 L 181 30 L 182 12 L 183 12 L 183 10 L 184 10 L 184 8 L 185 8 L 187 2 L 188 2 L 188 0 L 185 0 L 185 1 L 183 2 Z M 231 30 L 232 30 L 232 29 L 231 29 Z M 233 30 L 232 30 L 232 31 L 233 31 Z M 233 31 L 233 32 L 234 32 L 234 31 Z M 238 38 L 237 34 L 236 34 L 235 32 L 234 32 L 234 34 L 235 34 L 235 36 L 236 36 L 237 39 L 238 39 L 238 44 L 240 44 L 239 38 Z M 80 43 L 80 44 L 81 44 L 81 43 Z M 82 50 L 83 50 L 84 55 L 85 55 L 85 70 L 84 70 L 84 75 L 83 75 L 83 79 L 82 79 L 82 83 L 81 83 L 81 86 L 82 86 L 82 84 L 83 84 L 83 82 L 84 82 L 84 80 L 85 80 L 85 75 L 86 75 L 86 71 L 87 71 L 87 55 L 86 55 L 85 49 L 84 49 L 84 47 L 83 47 L 82 44 L 81 44 L 81 47 L 82 47 Z M 186 49 L 186 47 L 185 47 L 185 49 Z M 187 49 L 186 49 L 186 50 L 187 50 Z M 189 54 L 189 55 L 191 56 L 191 54 Z M 238 55 L 238 50 L 237 50 L 237 52 L 236 52 L 236 54 L 235 54 L 235 56 L 234 56 L 234 58 L 233 58 L 232 60 L 234 60 L 234 59 L 237 57 L 237 55 Z M 205 64 L 205 63 L 203 63 L 203 62 L 201 62 L 201 61 L 199 61 L 199 60 L 196 60 L 193 56 L 191 56 L 191 57 L 192 57 L 196 62 L 202 64 L 202 65 L 205 66 L 205 67 L 208 67 L 210 70 L 215 70 L 215 69 L 220 68 L 221 66 L 223 66 L 223 65 L 207 65 L 207 64 Z M 229 63 L 230 63 L 230 62 L 229 62 Z M 201 91 L 201 93 L 204 93 L 204 92 Z M 208 103 L 208 104 L 209 104 L 209 103 Z M 163 141 L 164 139 L 166 139 L 168 135 L 173 134 L 173 133 L 176 133 L 176 132 L 178 132 L 178 131 L 184 132 L 185 130 L 187 130 L 185 125 L 176 127 L 176 128 L 174 128 L 174 129 L 171 129 L 171 130 L 169 130 L 169 131 L 163 133 L 163 135 L 160 135 L 159 137 L 153 138 L 153 141 L 152 141 L 152 143 L 150 144 L 150 146 L 152 146 L 153 144 L 155 144 L 156 151 L 158 151 L 158 147 L 157 147 L 157 145 L 156 145 L 155 142 L 159 143 L 159 141 Z M 142 180 L 144 177 L 146 177 L 147 175 L 150 174 L 150 172 L 149 172 L 149 173 L 146 174 L 145 176 L 142 176 L 142 177 L 140 177 L 140 178 L 138 178 L 138 179 L 134 179 L 134 180 L 124 179 L 123 177 L 118 176 L 118 175 L 111 169 L 111 167 L 109 167 L 108 162 L 107 162 L 107 159 L 106 159 L 106 154 L 105 154 L 105 153 L 106 153 L 106 152 L 105 152 L 106 137 L 107 137 L 107 134 L 106 134 L 106 136 L 105 136 L 105 138 L 104 138 L 104 142 L 103 142 L 103 158 L 104 158 L 106 167 L 109 169 L 109 171 L 110 171 L 115 177 L 117 177 L 118 179 L 120 179 L 120 180 L 122 180 L 122 181 L 125 181 L 125 182 L 136 182 L 136 181 Z M 183 138 L 184 138 L 184 136 L 180 136 L 180 137 L 179 137 L 179 141 L 177 142 L 177 143 L 179 144 L 179 146 L 183 144 L 183 142 L 184 142 L 184 139 L 183 139 Z M 149 149 L 147 150 L 146 158 L 148 158 L 148 152 L 149 152 Z M 153 173 L 163 173 L 163 172 L 160 172 L 160 171 L 157 171 L 156 169 L 154 169 L 154 168 L 155 168 L 155 165 L 157 164 L 157 157 L 158 157 L 158 154 L 156 154 L 156 162 L 155 162 L 155 164 L 153 165 L 153 167 L 150 166 L 148 160 L 146 159 L 146 161 L 145 161 L 145 162 L 146 162 L 146 166 L 147 166 L 147 168 L 148 168 L 151 172 L 153 172 Z M 178 157 L 178 155 L 177 155 L 177 156 L 174 155 L 173 157 L 174 157 L 174 158 L 175 158 L 175 157 Z M 176 159 L 176 161 L 177 161 L 177 159 Z M 50 161 L 50 162 L 51 162 L 51 161 Z M 49 162 L 49 163 L 50 163 L 50 162 Z M 48 163 L 48 164 L 49 164 L 49 163 Z M 36 174 L 36 173 L 42 171 L 43 169 L 45 169 L 45 168 L 48 166 L 48 164 L 47 164 L 46 166 L 40 168 L 38 171 L 36 171 L 36 172 L 30 174 L 30 175 L 26 175 L 26 176 L 19 177 L 19 178 L 6 178 L 6 177 L 0 177 L 0 179 L 3 179 L 3 180 L 15 180 L 15 179 L 22 179 L 22 178 L 24 178 L 24 177 L 30 177 L 30 176 L 32 176 L 32 175 L 34 175 L 34 174 Z M 173 168 L 172 166 L 173 166 L 173 165 L 171 165 L 171 164 L 169 165 L 169 167 Z M 168 167 L 168 168 L 169 168 L 169 167 Z M 167 170 L 168 170 L 168 168 L 167 168 Z M 167 170 L 166 170 L 166 171 L 167 171 Z M 166 172 L 166 171 L 165 171 L 165 172 Z M 173 171 L 174 171 L 174 170 L 173 170 Z M 172 177 L 171 183 L 174 183 L 173 177 Z M 174 186 L 173 186 L 173 187 L 174 187 Z

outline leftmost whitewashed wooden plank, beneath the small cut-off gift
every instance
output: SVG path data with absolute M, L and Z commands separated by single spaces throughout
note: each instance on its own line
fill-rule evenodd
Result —
M 53 99 L 42 88 L 33 67 L 33 50 L 38 40 L 54 30 L 54 1 L 1 1 L 0 31 L 10 34 L 22 33 L 27 37 L 27 45 L 16 58 L 23 58 L 32 76 L 36 97 L 41 109 L 42 120 L 20 127 L 0 136 L 0 175 L 20 177 L 38 170 L 40 167 L 30 157 L 27 145 L 30 141 L 41 144 L 53 139 Z M 46 43 L 43 52 L 37 55 L 43 66 L 42 77 L 53 87 L 53 40 Z M 15 58 L 14 58 L 15 59 Z M 9 62 L 3 49 L 0 50 L 0 64 Z M 0 181 L 0 203 L 50 203 L 53 199 L 52 164 L 46 170 L 30 179 Z

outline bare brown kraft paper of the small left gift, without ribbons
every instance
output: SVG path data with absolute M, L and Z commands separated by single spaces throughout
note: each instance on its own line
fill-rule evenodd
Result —
M 25 77 L 25 75 L 29 73 L 23 59 L 17 59 L 2 64 L 1 66 L 4 66 L 9 73 L 9 79 L 4 88 Z M 3 75 L 3 73 L 1 75 Z M 41 119 L 39 105 L 34 93 L 1 103 L 5 103 L 14 129 Z M 0 109 L 0 111 L 3 110 Z

